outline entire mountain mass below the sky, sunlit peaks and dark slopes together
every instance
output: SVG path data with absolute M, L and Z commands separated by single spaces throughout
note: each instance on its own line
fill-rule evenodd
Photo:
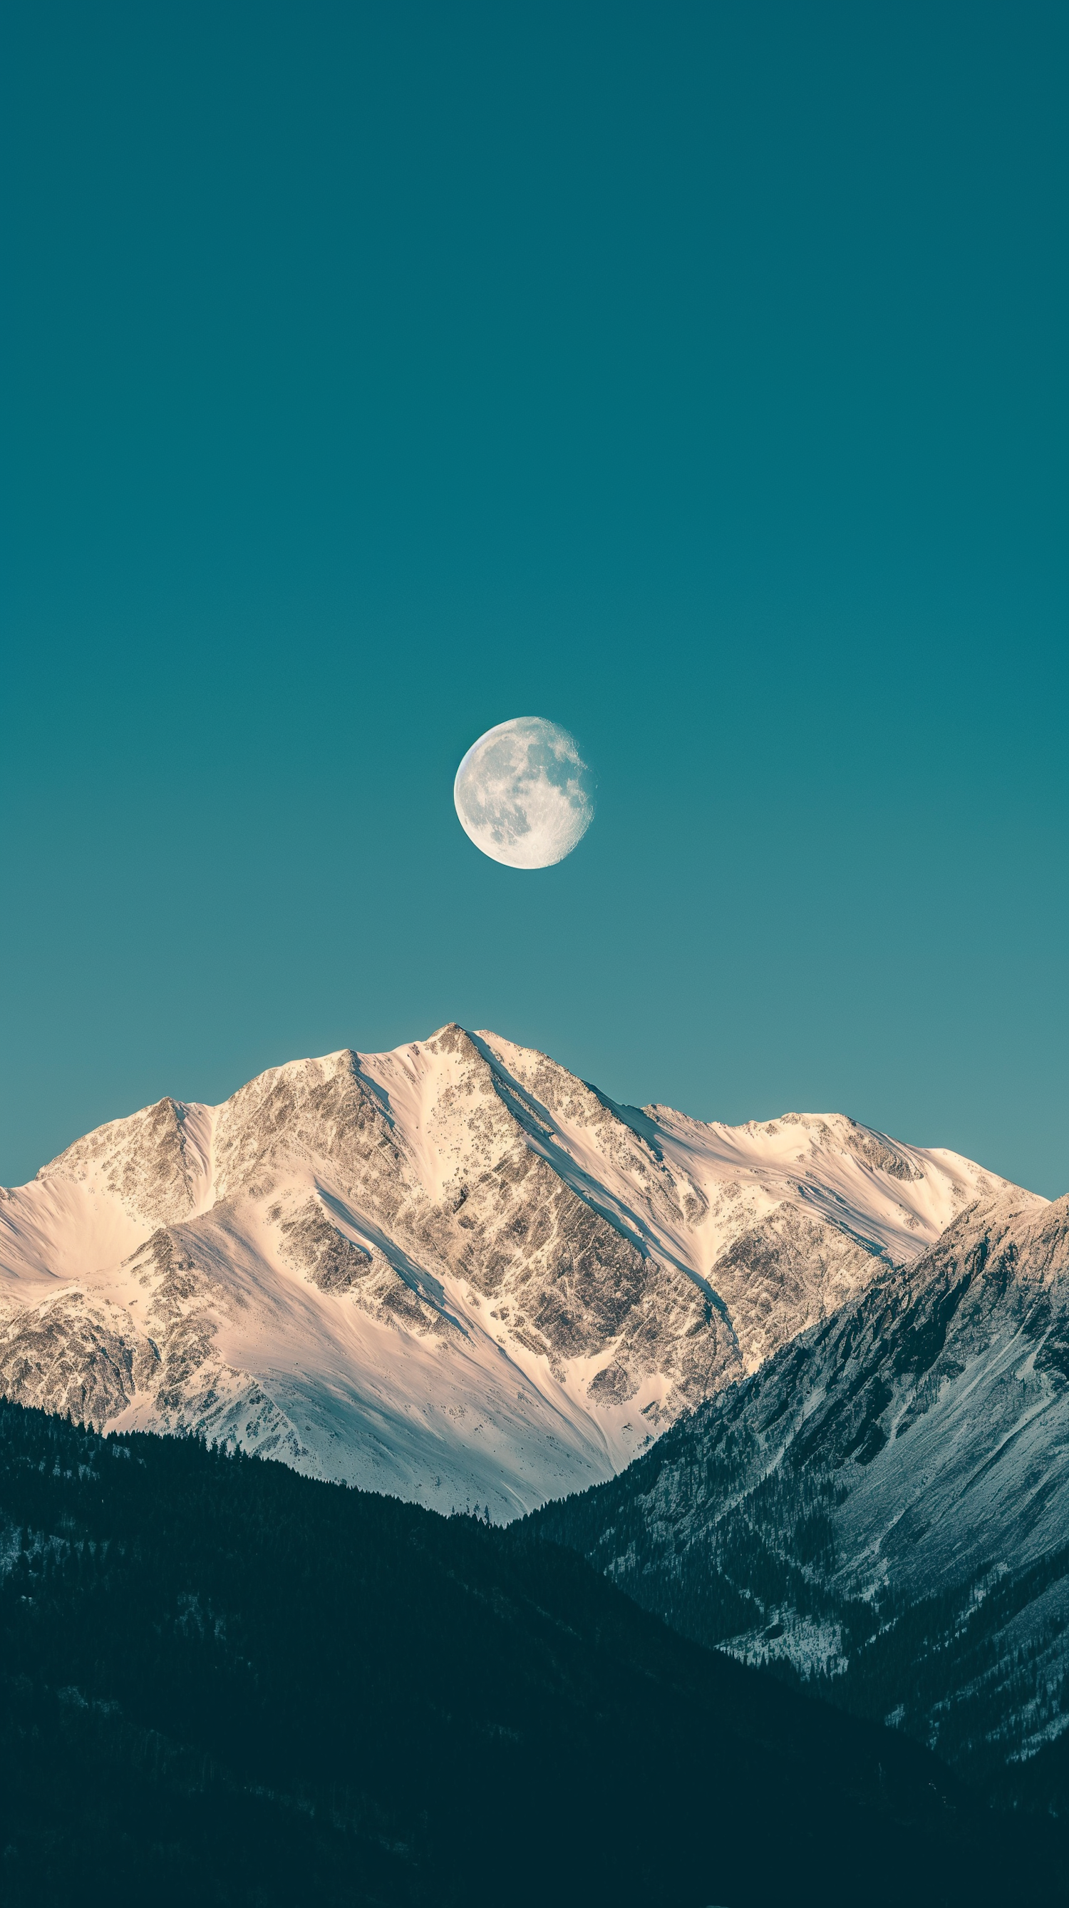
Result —
M 444 1027 L 2 1192 L 0 1399 L 11 1900 L 1063 1898 L 1065 1198 Z

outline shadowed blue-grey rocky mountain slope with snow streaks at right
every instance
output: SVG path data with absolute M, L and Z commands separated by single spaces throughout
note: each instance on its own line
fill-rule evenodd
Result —
M 697 1641 L 1006 1782 L 1069 1729 L 1069 1198 L 981 1196 L 541 1519 Z

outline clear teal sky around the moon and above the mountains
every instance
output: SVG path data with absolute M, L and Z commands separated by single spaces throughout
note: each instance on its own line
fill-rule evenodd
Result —
M 0 1181 L 457 1019 L 1065 1191 L 1065 6 L 0 34 Z

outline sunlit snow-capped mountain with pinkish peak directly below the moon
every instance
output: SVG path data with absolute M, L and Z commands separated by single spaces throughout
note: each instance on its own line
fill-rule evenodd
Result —
M 1000 1189 L 842 1114 L 617 1107 L 450 1025 L 162 1099 L 0 1194 L 0 1391 L 507 1519 Z

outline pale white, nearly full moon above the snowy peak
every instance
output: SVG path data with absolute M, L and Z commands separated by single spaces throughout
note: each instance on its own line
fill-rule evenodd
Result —
M 507 868 L 553 868 L 595 819 L 595 777 L 568 729 L 514 716 L 480 735 L 454 782 L 461 828 Z

